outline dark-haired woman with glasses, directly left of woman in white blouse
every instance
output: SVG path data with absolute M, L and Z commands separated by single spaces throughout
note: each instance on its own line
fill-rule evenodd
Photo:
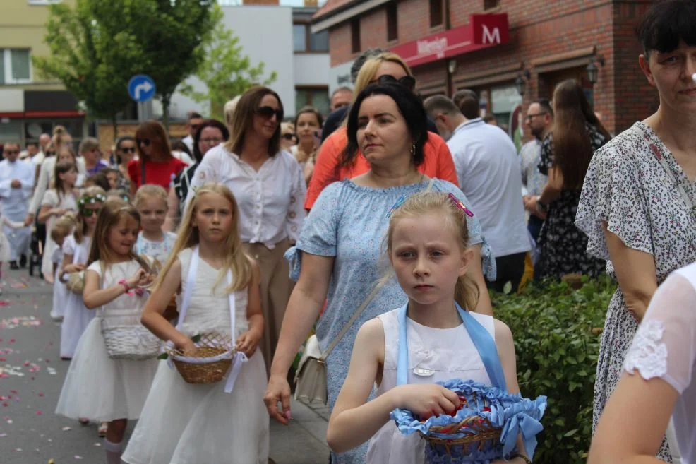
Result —
M 208 119 L 198 124 L 198 129 L 193 133 L 193 164 L 184 168 L 174 179 L 172 189 L 167 196 L 167 219 L 164 220 L 162 230 L 173 231 L 179 224 L 181 213 L 184 211 L 184 202 L 191 189 L 191 181 L 198 165 L 203 160 L 205 153 L 211 148 L 217 147 L 229 139 L 229 131 L 222 122 L 217 119 Z

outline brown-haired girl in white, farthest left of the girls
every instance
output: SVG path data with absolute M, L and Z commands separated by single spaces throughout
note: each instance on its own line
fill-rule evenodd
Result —
M 54 188 L 46 191 L 44 194 L 37 217 L 39 222 L 47 222 L 46 230 L 49 234 L 56 219 L 68 211 L 76 211 L 78 209 L 78 194 L 75 189 L 77 178 L 78 168 L 75 163 L 68 161 L 56 162 Z M 42 272 L 49 277 L 54 274 L 51 258 L 57 246 L 56 242 L 49 236 L 46 240 L 41 264 Z

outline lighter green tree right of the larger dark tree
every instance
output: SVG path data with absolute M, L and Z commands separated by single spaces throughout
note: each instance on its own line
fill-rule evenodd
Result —
M 270 85 L 275 82 L 277 73 L 272 71 L 264 79 L 265 64 L 251 66 L 251 60 L 239 45 L 239 37 L 225 28 L 219 6 L 213 11 L 213 20 L 215 28 L 210 42 L 205 45 L 205 59 L 196 71 L 196 77 L 205 83 L 207 90 L 198 92 L 191 84 L 184 83 L 179 92 L 198 103 L 209 103 L 210 116 L 222 120 L 227 100 L 246 92 L 254 84 Z

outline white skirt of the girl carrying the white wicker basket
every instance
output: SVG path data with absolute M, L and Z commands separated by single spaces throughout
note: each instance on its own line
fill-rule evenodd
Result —
M 138 419 L 156 371 L 155 358 L 109 358 L 100 319 L 92 319 L 70 363 L 56 414 L 94 422 Z

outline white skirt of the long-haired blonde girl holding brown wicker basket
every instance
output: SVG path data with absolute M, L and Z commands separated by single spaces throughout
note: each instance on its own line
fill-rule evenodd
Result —
M 128 464 L 267 464 L 269 417 L 260 350 L 241 368 L 232 393 L 224 380 L 193 385 L 161 362 L 143 414 L 121 460 Z

